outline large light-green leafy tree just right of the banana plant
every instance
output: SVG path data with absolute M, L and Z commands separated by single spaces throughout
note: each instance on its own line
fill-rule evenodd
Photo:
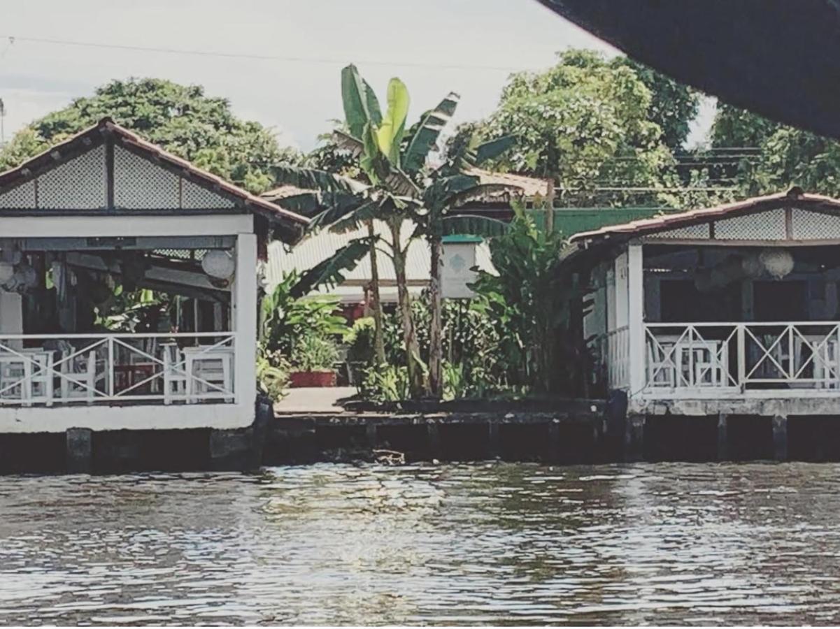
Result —
M 514 74 L 496 111 L 478 131 L 484 139 L 517 138 L 491 165 L 554 177 L 566 203 L 591 204 L 602 182 L 625 188 L 661 185 L 673 155 L 663 142 L 663 129 L 651 118 L 653 101 L 627 63 L 570 50 L 548 71 Z M 456 137 L 450 147 L 461 141 Z M 638 202 L 635 192 L 633 199 Z

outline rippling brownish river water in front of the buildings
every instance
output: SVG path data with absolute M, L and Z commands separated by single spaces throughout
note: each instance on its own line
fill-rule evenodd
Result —
M 0 478 L 0 623 L 840 621 L 840 466 Z

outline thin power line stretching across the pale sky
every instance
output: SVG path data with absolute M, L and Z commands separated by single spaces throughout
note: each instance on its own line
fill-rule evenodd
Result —
M 48 39 L 44 37 L 19 37 L 18 35 L 0 34 L 0 39 L 8 39 L 10 42 L 29 42 L 30 44 L 45 44 L 57 46 L 76 46 L 78 48 L 99 48 L 108 50 L 128 50 L 130 52 L 154 52 L 163 55 L 189 55 L 202 57 L 217 57 L 222 59 L 248 59 L 263 61 L 286 61 L 288 63 L 311 63 L 344 66 L 348 63 L 346 59 L 332 59 L 328 57 L 302 57 L 289 55 L 257 55 L 255 53 L 222 52 L 218 50 L 186 50 L 179 48 L 157 48 L 154 46 L 139 46 L 128 44 L 102 44 L 101 42 L 76 41 L 72 39 Z M 517 72 L 526 70 L 514 66 L 483 66 L 480 64 L 436 64 L 417 61 L 382 61 L 382 60 L 356 60 L 359 65 L 365 66 L 403 66 L 415 68 L 435 68 L 438 70 L 482 70 L 482 71 L 505 71 Z

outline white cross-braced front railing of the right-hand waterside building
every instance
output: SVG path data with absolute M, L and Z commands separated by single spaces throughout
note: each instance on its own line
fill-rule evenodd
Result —
M 840 323 L 647 323 L 648 390 L 840 389 Z

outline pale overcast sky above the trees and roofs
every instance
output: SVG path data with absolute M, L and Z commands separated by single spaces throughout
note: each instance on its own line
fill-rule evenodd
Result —
M 4 134 L 112 79 L 154 76 L 200 84 L 240 117 L 274 128 L 281 144 L 308 150 L 342 115 L 339 71 L 350 62 L 380 93 L 400 76 L 412 97 L 409 119 L 458 92 L 460 123 L 491 113 L 513 71 L 547 68 L 567 48 L 617 54 L 535 0 L 6 2 Z M 689 144 L 705 137 L 713 112 L 705 102 Z

